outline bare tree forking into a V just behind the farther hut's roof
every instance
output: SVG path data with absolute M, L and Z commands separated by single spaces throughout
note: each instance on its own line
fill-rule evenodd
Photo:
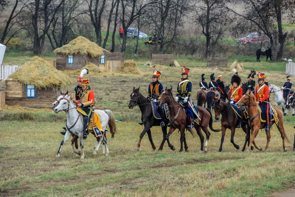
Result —
M 95 1 L 94 8 L 93 1 Z M 101 46 L 101 17 L 105 9 L 106 0 L 88 0 L 88 4 L 90 19 L 96 34 L 96 43 Z

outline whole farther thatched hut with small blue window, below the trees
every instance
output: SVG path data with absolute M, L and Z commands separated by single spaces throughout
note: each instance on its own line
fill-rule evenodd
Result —
M 99 47 L 95 42 L 79 36 L 68 44 L 54 50 L 57 54 L 58 70 L 81 69 L 88 62 L 97 66 L 100 64 L 100 57 L 109 51 Z

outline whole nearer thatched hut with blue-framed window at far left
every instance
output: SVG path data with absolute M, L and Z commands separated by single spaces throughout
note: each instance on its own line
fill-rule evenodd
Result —
M 61 88 L 72 80 L 49 62 L 33 57 L 6 79 L 5 102 L 34 108 L 51 107 Z

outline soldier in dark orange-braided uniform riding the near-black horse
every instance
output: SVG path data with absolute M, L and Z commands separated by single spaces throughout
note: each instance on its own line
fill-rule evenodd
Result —
M 148 100 L 151 100 L 152 102 L 157 102 L 159 99 L 162 91 L 163 91 L 163 85 L 161 82 L 159 82 L 159 79 L 161 78 L 161 72 L 154 70 L 152 73 L 152 82 L 149 83 L 148 86 Z M 165 126 L 165 115 L 164 111 L 161 105 L 158 106 L 158 112 L 161 116 L 162 122 L 160 124 L 161 127 Z M 138 124 L 143 125 L 142 121 L 140 121 Z

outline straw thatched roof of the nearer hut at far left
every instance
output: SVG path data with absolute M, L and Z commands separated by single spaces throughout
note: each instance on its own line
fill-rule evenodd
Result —
M 10 77 L 24 84 L 34 85 L 36 89 L 55 86 L 66 88 L 73 83 L 62 71 L 37 56 L 17 69 Z

